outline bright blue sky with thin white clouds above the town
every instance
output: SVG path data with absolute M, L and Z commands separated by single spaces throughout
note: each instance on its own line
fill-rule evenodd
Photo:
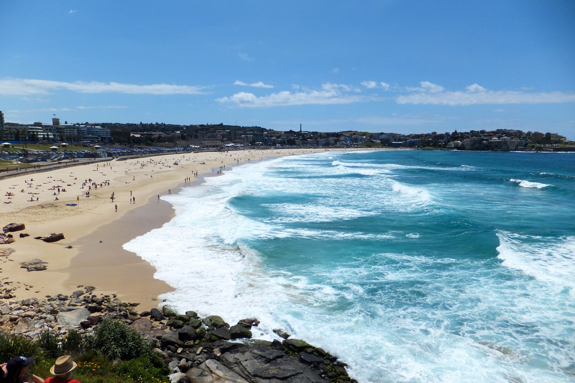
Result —
M 0 0 L 6 122 L 575 140 L 573 0 Z

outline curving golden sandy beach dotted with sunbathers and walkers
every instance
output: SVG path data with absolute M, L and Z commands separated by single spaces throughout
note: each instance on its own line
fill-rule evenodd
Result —
M 92 285 L 98 293 L 115 293 L 124 301 L 140 303 L 141 310 L 156 307 L 158 295 L 171 287 L 156 280 L 155 269 L 122 245 L 173 217 L 173 208 L 162 195 L 193 187 L 200 182 L 196 173 L 217 176 L 224 165 L 325 150 L 167 154 L 0 179 L 0 225 L 26 225 L 24 231 L 12 233 L 15 242 L 0 245 L 14 250 L 0 256 L 0 282 L 15 288 L 11 295 L 18 299 L 69 294 L 79 285 Z M 29 237 L 20 238 L 20 233 Z M 34 239 L 51 233 L 63 233 L 65 239 L 52 243 Z M 28 272 L 20 267 L 20 262 L 33 258 L 48 262 L 47 270 Z M 2 300 L 0 296 L 0 304 Z

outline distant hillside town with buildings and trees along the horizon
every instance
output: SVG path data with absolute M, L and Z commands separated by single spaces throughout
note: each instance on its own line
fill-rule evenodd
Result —
M 217 148 L 220 146 L 367 146 L 389 148 L 444 148 L 451 150 L 575 150 L 575 142 L 558 133 L 518 129 L 470 130 L 420 134 L 369 133 L 365 131 L 277 131 L 259 126 L 171 125 L 166 123 L 51 123 L 30 125 L 5 122 L 0 111 L 2 141 L 81 142 L 114 146 L 160 148 Z

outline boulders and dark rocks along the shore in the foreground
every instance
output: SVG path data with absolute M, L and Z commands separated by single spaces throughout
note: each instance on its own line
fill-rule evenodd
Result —
M 95 295 L 82 287 L 70 296 L 2 300 L 0 331 L 32 339 L 43 331 L 66 335 L 74 329 L 89 334 L 102 318 L 118 319 L 144 336 L 166 362 L 174 383 L 324 383 L 355 382 L 345 364 L 305 341 L 251 339 L 255 318 L 230 326 L 216 315 L 200 318 L 194 311 L 179 314 L 169 307 L 138 313 L 137 304 L 115 295 Z M 234 339 L 232 341 L 232 339 Z M 281 341 L 280 341 L 281 339 Z

